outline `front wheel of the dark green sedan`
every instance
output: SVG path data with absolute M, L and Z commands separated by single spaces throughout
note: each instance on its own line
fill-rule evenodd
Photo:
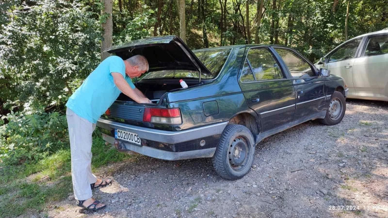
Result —
M 337 111 L 337 110 L 340 110 L 340 111 Z M 337 125 L 339 124 L 339 122 L 341 122 L 343 116 L 345 115 L 345 111 L 346 111 L 345 97 L 343 96 L 342 93 L 335 91 L 331 95 L 329 108 L 326 111 L 325 118 L 319 119 L 319 121 L 324 125 Z M 334 114 L 336 115 L 334 116 Z

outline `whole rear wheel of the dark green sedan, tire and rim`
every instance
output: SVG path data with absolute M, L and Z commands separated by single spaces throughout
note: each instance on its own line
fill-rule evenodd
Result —
M 243 125 L 233 124 L 227 125 L 221 134 L 212 163 L 221 177 L 236 180 L 248 173 L 254 157 L 255 140 L 251 131 Z

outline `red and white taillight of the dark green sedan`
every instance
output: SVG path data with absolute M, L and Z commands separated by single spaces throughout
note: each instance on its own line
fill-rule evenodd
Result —
M 159 124 L 181 124 L 180 110 L 178 108 L 159 109 L 145 108 L 143 115 L 144 122 Z

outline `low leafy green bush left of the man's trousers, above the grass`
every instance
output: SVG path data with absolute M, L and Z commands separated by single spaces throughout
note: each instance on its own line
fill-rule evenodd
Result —
M 68 146 L 66 116 L 58 112 L 20 112 L 2 116 L 0 159 L 7 164 L 38 160 Z

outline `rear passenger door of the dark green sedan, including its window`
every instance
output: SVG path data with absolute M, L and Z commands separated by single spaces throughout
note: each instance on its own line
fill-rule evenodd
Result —
M 261 132 L 292 121 L 295 91 L 269 47 L 250 47 L 240 74 L 248 106 L 260 118 Z

